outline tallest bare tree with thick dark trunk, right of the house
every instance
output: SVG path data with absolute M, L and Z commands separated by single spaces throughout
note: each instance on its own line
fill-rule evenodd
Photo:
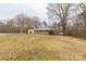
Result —
M 66 23 L 71 10 L 71 3 L 49 3 L 48 5 L 48 11 L 52 18 L 61 22 L 63 35 L 66 34 Z

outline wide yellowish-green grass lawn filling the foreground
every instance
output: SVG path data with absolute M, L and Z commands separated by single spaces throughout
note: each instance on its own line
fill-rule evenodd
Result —
M 86 60 L 86 40 L 67 36 L 0 35 L 0 60 Z

